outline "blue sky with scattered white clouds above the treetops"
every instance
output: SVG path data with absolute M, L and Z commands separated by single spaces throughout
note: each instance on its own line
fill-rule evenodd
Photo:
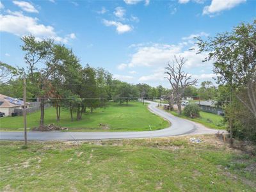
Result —
M 195 54 L 194 36 L 214 36 L 256 19 L 255 0 L 1 1 L 0 60 L 26 67 L 20 36 L 54 38 L 81 60 L 129 83 L 163 84 L 174 55 L 199 82 L 211 80 L 212 62 Z M 213 81 L 213 80 L 212 80 Z

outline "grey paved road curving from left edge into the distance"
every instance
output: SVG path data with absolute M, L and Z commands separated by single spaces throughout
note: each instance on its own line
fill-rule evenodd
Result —
M 200 124 L 173 116 L 159 108 L 157 102 L 149 102 L 148 108 L 152 113 L 162 116 L 172 123 L 172 126 L 157 131 L 129 131 L 129 132 L 38 132 L 29 131 L 28 140 L 108 140 L 125 138 L 157 138 L 165 136 L 178 136 L 183 134 L 216 133 Z M 0 132 L 0 140 L 24 140 L 23 132 Z

